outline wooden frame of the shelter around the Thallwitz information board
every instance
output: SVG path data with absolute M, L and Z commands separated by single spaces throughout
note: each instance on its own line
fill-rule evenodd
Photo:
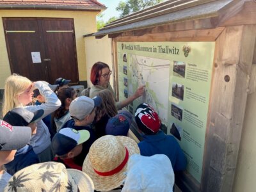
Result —
M 168 7 L 168 3 L 173 2 L 167 1 L 163 6 Z M 207 3 L 214 5 L 216 2 L 191 1 L 193 4 L 190 7 L 185 4 L 183 9 Z M 157 6 L 153 9 L 157 10 Z M 183 10 L 182 6 L 169 9 L 175 12 Z M 141 20 L 148 19 L 147 12 L 152 14 L 152 9 L 151 12 L 150 9 L 138 12 L 137 16 L 141 14 Z M 134 18 L 135 21 L 132 21 Z M 154 20 L 153 16 L 150 18 Z M 95 33 L 96 38 L 107 34 L 112 38 L 114 70 L 117 70 L 116 42 L 216 42 L 202 179 L 198 183 L 189 173 L 180 174 L 175 182 L 182 191 L 232 191 L 247 95 L 256 90 L 255 18 L 256 1 L 230 0 L 212 14 L 198 13 L 192 18 L 126 29 L 124 25 L 140 21 L 134 13 Z M 118 76 L 114 74 L 115 90 L 118 93 Z

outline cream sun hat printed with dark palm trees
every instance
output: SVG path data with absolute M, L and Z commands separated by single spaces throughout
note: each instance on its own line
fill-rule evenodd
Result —
M 38 163 L 15 173 L 4 191 L 93 191 L 92 179 L 57 162 Z

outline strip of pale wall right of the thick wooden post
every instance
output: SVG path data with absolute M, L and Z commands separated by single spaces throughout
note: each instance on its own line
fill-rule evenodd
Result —
M 253 192 L 256 175 L 256 93 L 248 95 L 244 125 L 237 159 L 234 192 Z

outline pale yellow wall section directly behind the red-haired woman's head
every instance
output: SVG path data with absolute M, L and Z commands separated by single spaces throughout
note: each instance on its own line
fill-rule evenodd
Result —
M 109 65 L 110 70 L 112 70 L 112 54 L 111 54 L 111 39 L 108 35 L 103 38 L 96 39 L 95 36 L 88 36 L 84 38 L 85 52 L 86 52 L 86 67 L 87 67 L 87 77 L 88 86 L 92 86 L 90 81 L 90 72 L 92 65 L 97 61 L 102 61 Z M 113 76 L 110 79 L 111 86 L 113 86 Z

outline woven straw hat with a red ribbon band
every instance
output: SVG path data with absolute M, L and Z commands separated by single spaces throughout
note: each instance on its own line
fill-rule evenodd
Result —
M 84 159 L 83 172 L 92 178 L 95 190 L 115 189 L 125 179 L 127 161 L 132 154 L 140 154 L 140 149 L 131 138 L 102 136 L 90 147 Z

